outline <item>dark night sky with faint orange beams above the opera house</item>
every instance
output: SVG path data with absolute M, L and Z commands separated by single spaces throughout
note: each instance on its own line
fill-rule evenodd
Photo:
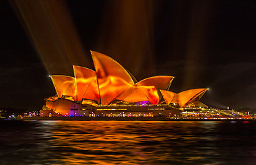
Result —
M 39 110 L 89 50 L 211 107 L 256 108 L 256 1 L 1 1 L 0 107 Z

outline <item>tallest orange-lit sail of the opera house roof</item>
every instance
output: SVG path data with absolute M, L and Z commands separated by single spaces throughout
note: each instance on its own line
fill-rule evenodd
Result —
M 114 59 L 94 51 L 91 51 L 91 54 L 98 78 L 101 104 L 106 105 L 129 85 L 134 85 L 134 81 L 125 68 Z

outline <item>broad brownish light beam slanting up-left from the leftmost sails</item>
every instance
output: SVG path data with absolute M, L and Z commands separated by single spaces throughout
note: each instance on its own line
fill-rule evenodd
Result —
M 72 76 L 72 65 L 90 67 L 64 1 L 10 2 L 49 74 Z

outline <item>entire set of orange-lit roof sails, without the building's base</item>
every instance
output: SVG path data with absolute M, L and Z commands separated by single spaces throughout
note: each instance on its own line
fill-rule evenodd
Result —
M 51 76 L 54 87 L 61 96 L 70 96 L 69 100 L 83 99 L 82 104 L 97 106 L 95 100 L 107 105 L 113 100 L 123 102 L 149 101 L 158 104 L 158 89 L 167 104 L 179 104 L 186 107 L 191 102 L 198 102 L 207 89 L 191 89 L 175 94 L 168 89 L 173 76 L 154 76 L 134 84 L 130 74 L 114 59 L 92 51 L 96 72 L 85 67 L 74 66 L 76 78 L 70 76 Z M 192 103 L 191 103 L 192 104 Z

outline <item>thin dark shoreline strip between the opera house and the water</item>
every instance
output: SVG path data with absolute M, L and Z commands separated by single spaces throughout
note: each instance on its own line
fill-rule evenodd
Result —
M 256 121 L 255 118 L 163 118 L 163 117 L 23 117 L 15 120 L 64 120 L 64 121 Z

